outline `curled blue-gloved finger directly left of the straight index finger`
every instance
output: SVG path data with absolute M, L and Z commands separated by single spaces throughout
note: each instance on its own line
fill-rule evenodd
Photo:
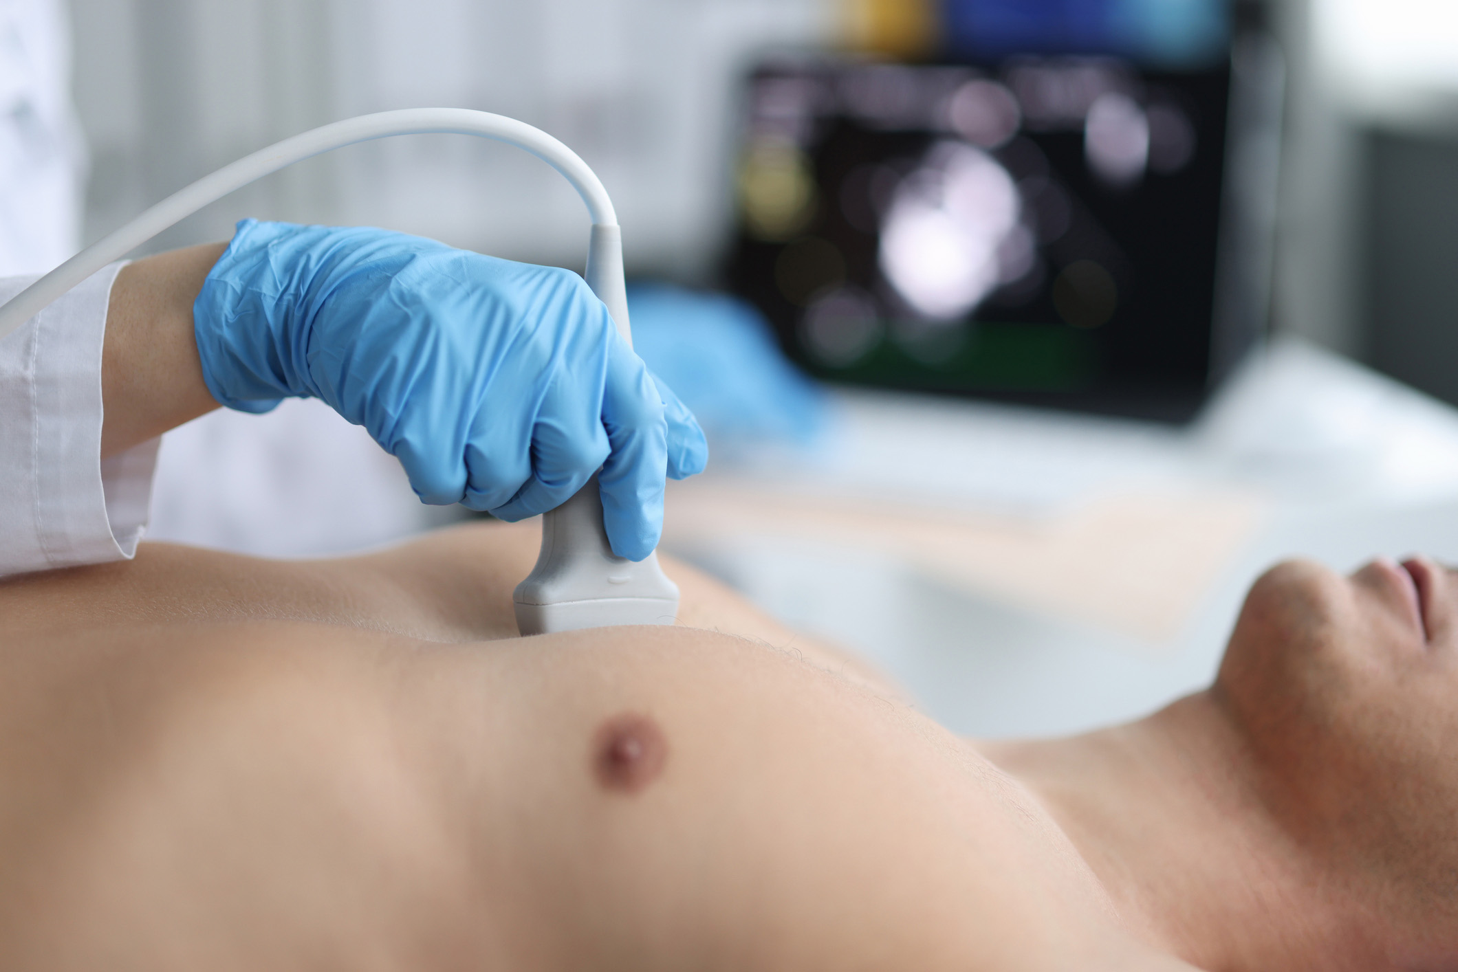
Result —
M 554 510 L 602 466 L 611 446 L 598 388 L 596 380 L 553 379 L 532 428 L 532 472 L 516 495 L 491 507 L 493 516 L 515 522 Z

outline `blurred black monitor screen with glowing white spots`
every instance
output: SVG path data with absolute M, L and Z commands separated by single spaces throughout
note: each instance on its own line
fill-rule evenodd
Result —
M 1007 25 L 1028 10 L 1073 31 L 1121 4 L 952 6 L 1003 16 L 983 36 L 1024 47 Z M 1228 58 L 1085 54 L 767 66 L 732 286 L 821 377 L 1190 412 L 1210 377 L 1229 79 Z

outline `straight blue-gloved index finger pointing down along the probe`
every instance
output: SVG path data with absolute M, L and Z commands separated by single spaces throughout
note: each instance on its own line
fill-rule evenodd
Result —
M 663 532 L 668 423 L 647 366 L 612 338 L 602 396 L 602 426 L 612 447 L 598 479 L 602 525 L 612 552 L 637 561 L 653 552 Z

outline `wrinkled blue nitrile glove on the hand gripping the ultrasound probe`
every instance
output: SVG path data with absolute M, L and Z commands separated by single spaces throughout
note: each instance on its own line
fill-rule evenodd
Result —
M 643 560 L 698 424 L 576 274 L 379 229 L 243 220 L 192 305 L 207 389 L 264 412 L 319 398 L 397 456 L 426 503 L 503 520 L 602 466 L 614 552 Z

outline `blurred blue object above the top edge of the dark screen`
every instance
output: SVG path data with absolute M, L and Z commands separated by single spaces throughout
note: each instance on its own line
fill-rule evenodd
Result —
M 1185 67 L 1223 55 L 1228 0 L 942 0 L 949 52 L 1112 54 Z

